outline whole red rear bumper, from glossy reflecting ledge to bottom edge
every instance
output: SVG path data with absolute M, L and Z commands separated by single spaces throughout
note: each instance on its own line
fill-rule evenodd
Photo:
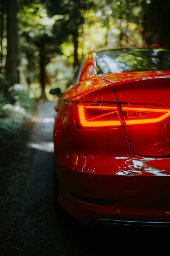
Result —
M 76 161 L 81 157 L 76 156 Z M 71 159 L 70 168 L 64 166 L 68 165 L 67 159 Z M 154 222 L 153 226 L 158 223 L 162 226 L 164 222 L 169 225 L 169 159 L 110 157 L 111 165 L 104 157 L 91 160 L 97 167 L 89 172 L 83 169 L 88 164 L 90 168 L 88 160 L 81 169 L 74 170 L 71 166 L 75 160 L 71 155 L 66 156 L 62 165 L 56 161 L 59 203 L 70 215 L 84 224 L 100 219 L 102 223 L 114 225 L 123 225 L 125 222 L 113 220 L 128 220 L 131 223 L 127 224 L 134 226 L 149 225 L 148 221 L 150 225 Z M 120 172 L 120 169 L 126 171 Z

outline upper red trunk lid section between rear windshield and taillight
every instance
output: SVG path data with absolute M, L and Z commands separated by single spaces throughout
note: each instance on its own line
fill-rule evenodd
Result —
M 146 71 L 104 74 L 114 84 L 120 102 L 170 105 L 170 72 Z

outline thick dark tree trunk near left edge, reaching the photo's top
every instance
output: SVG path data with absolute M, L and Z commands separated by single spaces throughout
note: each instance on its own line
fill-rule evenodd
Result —
M 17 0 L 5 0 L 7 12 L 7 80 L 18 82 Z

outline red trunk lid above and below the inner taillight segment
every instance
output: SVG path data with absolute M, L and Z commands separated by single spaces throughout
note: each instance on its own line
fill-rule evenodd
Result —
M 131 116 L 136 106 L 136 109 L 143 110 L 152 108 L 150 116 L 153 113 L 159 116 L 155 109 L 160 112 L 170 110 L 170 72 L 125 72 L 102 75 L 101 78 L 114 84 L 118 102 L 126 108 L 131 107 Z M 152 119 L 151 123 L 125 123 L 130 146 L 138 155 L 170 157 L 170 116 L 155 120 Z

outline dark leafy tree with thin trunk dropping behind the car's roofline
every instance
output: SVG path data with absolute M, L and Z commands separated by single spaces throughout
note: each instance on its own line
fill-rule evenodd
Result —
M 67 40 L 68 36 L 73 35 L 74 43 L 74 66 L 78 62 L 78 28 L 83 26 L 84 17 L 82 11 L 95 6 L 94 1 L 90 0 L 43 0 L 46 3 L 48 11 L 51 16 L 63 15 L 64 19 L 54 24 L 54 34 L 58 43 L 62 40 Z M 100 0 L 98 0 L 100 2 Z

